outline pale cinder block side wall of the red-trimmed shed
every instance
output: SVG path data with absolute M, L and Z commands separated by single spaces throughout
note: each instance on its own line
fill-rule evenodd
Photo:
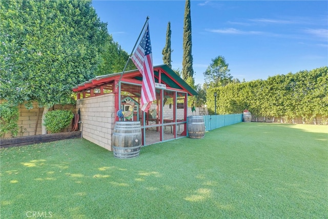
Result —
M 108 150 L 112 150 L 112 130 L 115 126 L 115 96 L 106 94 L 97 97 L 79 99 L 76 113 L 80 109 L 80 121 L 83 122 L 83 138 Z

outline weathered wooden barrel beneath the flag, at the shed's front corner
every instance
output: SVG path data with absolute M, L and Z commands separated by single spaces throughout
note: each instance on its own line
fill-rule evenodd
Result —
M 116 158 L 135 158 L 141 147 L 140 122 L 117 121 L 112 136 L 113 154 Z

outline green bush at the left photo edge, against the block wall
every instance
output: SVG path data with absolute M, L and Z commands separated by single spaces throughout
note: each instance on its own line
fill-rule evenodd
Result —
M 4 138 L 7 133 L 11 133 L 13 137 L 18 134 L 18 117 L 19 112 L 17 106 L 10 105 L 8 102 L 0 104 L 0 137 Z

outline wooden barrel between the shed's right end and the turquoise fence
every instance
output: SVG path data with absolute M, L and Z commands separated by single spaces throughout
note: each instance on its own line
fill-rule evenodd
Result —
M 205 136 L 205 123 L 202 116 L 189 116 L 187 122 L 189 138 L 203 138 Z

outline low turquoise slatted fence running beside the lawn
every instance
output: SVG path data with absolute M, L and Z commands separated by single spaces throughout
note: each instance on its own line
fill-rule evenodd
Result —
M 242 122 L 242 114 L 229 114 L 229 115 L 205 115 L 205 131 L 210 131 L 227 125 Z

